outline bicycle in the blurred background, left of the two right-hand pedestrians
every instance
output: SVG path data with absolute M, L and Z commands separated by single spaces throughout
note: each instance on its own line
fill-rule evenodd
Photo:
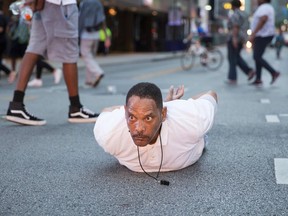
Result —
M 224 56 L 218 48 L 213 46 L 205 47 L 199 41 L 192 41 L 181 56 L 181 67 L 183 70 L 191 69 L 197 58 L 200 59 L 202 66 L 210 70 L 217 70 L 224 61 Z

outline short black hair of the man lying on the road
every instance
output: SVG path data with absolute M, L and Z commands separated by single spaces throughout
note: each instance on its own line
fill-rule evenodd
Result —
M 132 96 L 152 99 L 155 101 L 157 108 L 161 110 L 163 108 L 163 99 L 161 90 L 157 85 L 153 83 L 141 82 L 132 86 L 126 95 L 126 105 L 128 103 L 128 100 Z

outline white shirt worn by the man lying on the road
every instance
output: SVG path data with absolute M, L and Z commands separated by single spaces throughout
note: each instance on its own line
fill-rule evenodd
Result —
M 211 129 L 217 104 L 210 95 L 197 100 L 173 100 L 164 103 L 167 118 L 162 124 L 163 162 L 161 171 L 185 168 L 202 155 L 204 135 Z M 98 144 L 132 171 L 143 172 L 125 119 L 122 106 L 98 117 L 94 136 Z M 147 172 L 157 172 L 161 163 L 160 138 L 153 145 L 139 147 L 140 159 Z

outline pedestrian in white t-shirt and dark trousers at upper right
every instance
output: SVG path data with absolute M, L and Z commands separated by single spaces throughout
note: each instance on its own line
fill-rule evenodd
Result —
M 270 0 L 258 0 L 258 7 L 253 14 L 251 24 L 252 34 L 249 41 L 253 44 L 253 58 L 256 64 L 256 79 L 252 85 L 261 86 L 262 68 L 265 68 L 271 74 L 272 85 L 280 76 L 280 72 L 276 71 L 264 58 L 266 47 L 272 41 L 275 34 L 275 11 Z

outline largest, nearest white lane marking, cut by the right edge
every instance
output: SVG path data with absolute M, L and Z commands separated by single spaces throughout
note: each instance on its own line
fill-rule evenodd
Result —
M 277 184 L 288 184 L 288 158 L 274 158 Z

